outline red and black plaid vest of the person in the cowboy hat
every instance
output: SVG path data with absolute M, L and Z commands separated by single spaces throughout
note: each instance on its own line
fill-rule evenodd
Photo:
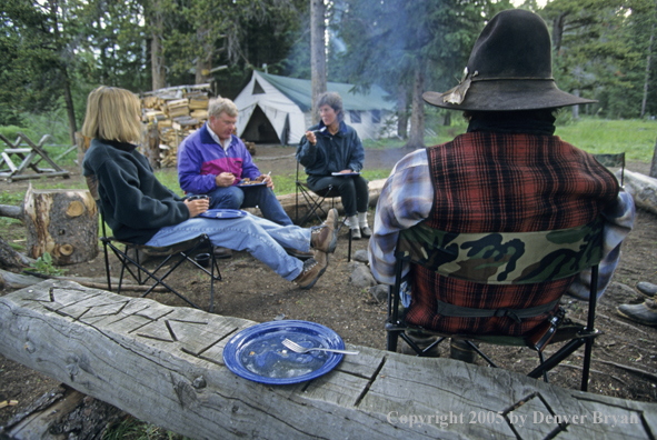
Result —
M 450 232 L 525 232 L 585 224 L 613 203 L 616 178 L 590 154 L 554 136 L 472 132 L 427 150 L 435 201 L 426 220 Z M 524 334 L 550 313 L 510 318 L 436 313 L 436 299 L 480 309 L 522 309 L 560 298 L 573 279 L 488 286 L 412 271 L 409 323 L 450 333 Z M 556 309 L 555 309 L 556 310 Z

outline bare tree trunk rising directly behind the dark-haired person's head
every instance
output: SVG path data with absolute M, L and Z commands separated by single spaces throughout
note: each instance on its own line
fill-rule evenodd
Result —
M 317 98 L 326 91 L 326 27 L 323 0 L 310 0 L 310 64 L 312 79 L 312 124 L 319 122 Z

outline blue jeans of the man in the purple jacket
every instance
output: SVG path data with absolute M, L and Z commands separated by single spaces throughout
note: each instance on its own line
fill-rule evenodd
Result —
M 260 208 L 262 217 L 281 226 L 291 226 L 292 220 L 280 206 L 276 194 L 267 187 L 218 187 L 208 192 L 210 209 Z

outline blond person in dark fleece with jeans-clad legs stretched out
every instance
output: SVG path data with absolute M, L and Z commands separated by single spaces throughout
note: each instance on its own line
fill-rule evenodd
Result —
M 205 233 L 215 246 L 248 251 L 302 289 L 317 282 L 328 267 L 327 252 L 336 248 L 336 210 L 315 231 L 249 213 L 221 220 L 199 217 L 208 209 L 208 200 L 178 197 L 158 181 L 137 151 L 140 114 L 139 100 L 128 90 L 101 86 L 89 93 L 82 133 L 92 140 L 83 173 L 97 180 L 99 209 L 117 239 L 166 247 Z M 301 261 L 288 256 L 283 247 L 312 248 L 315 258 Z

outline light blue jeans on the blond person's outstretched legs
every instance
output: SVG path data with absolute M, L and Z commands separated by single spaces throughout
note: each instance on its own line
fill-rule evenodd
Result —
M 280 226 L 247 213 L 239 219 L 205 219 L 196 217 L 160 229 L 146 244 L 170 246 L 206 233 L 215 246 L 246 250 L 288 281 L 297 278 L 303 262 L 288 256 L 283 247 L 310 250 L 310 229 Z

